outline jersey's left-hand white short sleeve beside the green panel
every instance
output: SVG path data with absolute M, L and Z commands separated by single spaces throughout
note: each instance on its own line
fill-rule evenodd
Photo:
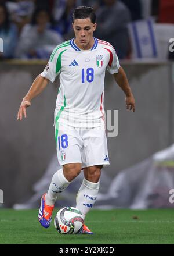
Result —
M 57 47 L 53 50 L 52 54 L 50 55 L 49 62 L 47 63 L 44 71 L 41 73 L 42 77 L 47 78 L 48 80 L 52 81 L 52 83 L 55 81 L 56 76 L 60 73 L 56 72 L 56 65 L 57 65 L 57 59 L 59 56 L 59 49 Z

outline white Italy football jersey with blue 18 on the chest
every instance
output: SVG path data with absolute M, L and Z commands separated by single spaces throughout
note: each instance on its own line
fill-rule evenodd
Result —
M 41 73 L 52 83 L 60 74 L 55 122 L 85 128 L 104 126 L 105 70 L 118 73 L 120 65 L 111 44 L 94 41 L 85 51 L 77 47 L 74 38 L 58 45 Z

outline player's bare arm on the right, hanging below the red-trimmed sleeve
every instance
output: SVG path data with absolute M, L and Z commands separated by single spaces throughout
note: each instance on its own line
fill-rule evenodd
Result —
M 129 82 L 126 73 L 124 72 L 124 69 L 122 67 L 119 67 L 118 73 L 114 73 L 113 77 L 118 86 L 121 87 L 121 89 L 126 94 L 126 109 L 135 112 L 135 99 L 133 97 L 131 87 L 129 86 Z

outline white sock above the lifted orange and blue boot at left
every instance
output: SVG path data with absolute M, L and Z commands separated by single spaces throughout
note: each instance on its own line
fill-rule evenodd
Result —
M 68 182 L 63 174 L 63 169 L 57 170 L 52 177 L 48 192 L 45 196 L 45 202 L 47 205 L 55 204 L 57 196 L 63 190 L 65 190 L 71 182 Z

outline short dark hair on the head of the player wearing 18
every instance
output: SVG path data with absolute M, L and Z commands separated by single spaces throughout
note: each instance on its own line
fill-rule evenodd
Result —
M 74 12 L 71 16 L 72 22 L 74 23 L 75 19 L 87 19 L 90 18 L 92 23 L 96 22 L 96 15 L 92 7 L 78 6 L 74 9 Z

